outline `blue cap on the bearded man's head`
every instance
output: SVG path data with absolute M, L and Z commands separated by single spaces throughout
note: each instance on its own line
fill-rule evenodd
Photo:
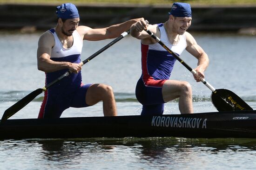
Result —
M 61 19 L 79 18 L 79 13 L 74 4 L 66 3 L 56 7 L 57 16 Z

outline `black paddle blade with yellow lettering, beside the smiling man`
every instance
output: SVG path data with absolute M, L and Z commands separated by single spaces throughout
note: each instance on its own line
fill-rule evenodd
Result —
M 253 110 L 243 99 L 227 89 L 216 89 L 211 100 L 218 111 Z

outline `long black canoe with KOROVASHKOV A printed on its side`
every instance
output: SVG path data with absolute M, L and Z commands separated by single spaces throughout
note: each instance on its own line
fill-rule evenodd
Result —
M 256 110 L 162 116 L 11 119 L 0 139 L 123 137 L 256 138 Z

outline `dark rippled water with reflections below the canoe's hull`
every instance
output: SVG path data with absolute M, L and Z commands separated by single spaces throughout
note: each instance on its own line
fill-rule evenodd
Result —
M 185 138 L 123 138 L 123 139 L 32 139 L 0 141 L 0 158 L 10 152 L 29 157 L 37 165 L 54 169 L 202 169 L 243 168 L 256 165 L 256 139 L 185 139 Z M 236 160 L 243 155 L 243 159 Z M 34 157 L 35 156 L 35 157 Z M 234 160 L 233 160 L 234 159 Z M 25 164 L 30 162 L 25 161 Z M 224 164 L 229 160 L 229 164 Z M 250 164 L 244 164 L 246 162 Z M 104 162 L 104 164 L 102 163 Z M 55 167 L 53 167 L 53 165 Z M 193 166 L 192 166 L 193 165 Z M 90 168 L 89 168 L 90 167 Z

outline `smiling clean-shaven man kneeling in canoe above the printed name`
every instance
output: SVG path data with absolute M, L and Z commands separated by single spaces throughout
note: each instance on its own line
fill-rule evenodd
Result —
M 148 28 L 178 55 L 186 49 L 195 56 L 198 63 L 194 78 L 196 82 L 200 82 L 204 78 L 209 58 L 187 32 L 191 20 L 190 5 L 175 2 L 167 22 L 148 25 L 144 19 L 141 19 L 131 26 L 131 35 L 141 39 L 142 74 L 135 91 L 138 101 L 143 105 L 141 115 L 162 114 L 164 103 L 176 98 L 179 98 L 181 113 L 193 113 L 191 85 L 188 82 L 169 80 L 176 61 L 175 57 L 143 31 Z

